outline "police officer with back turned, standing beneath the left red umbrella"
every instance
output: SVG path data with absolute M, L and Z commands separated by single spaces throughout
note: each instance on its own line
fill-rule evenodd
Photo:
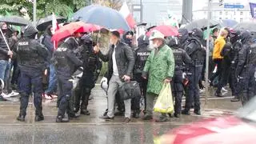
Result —
M 78 47 L 78 42 L 74 37 L 67 38 L 61 46 L 54 51 L 54 66 L 58 78 L 58 116 L 56 122 L 69 122 L 70 118 L 77 118 L 70 108 L 71 90 L 73 88 L 72 74 L 78 66 L 82 66 L 82 61 L 74 54 L 74 49 Z M 65 114 L 68 115 L 65 118 Z

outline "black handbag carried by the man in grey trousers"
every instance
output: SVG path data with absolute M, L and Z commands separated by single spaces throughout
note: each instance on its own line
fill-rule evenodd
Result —
M 125 82 L 118 88 L 118 92 L 122 100 L 141 96 L 141 89 L 136 81 Z

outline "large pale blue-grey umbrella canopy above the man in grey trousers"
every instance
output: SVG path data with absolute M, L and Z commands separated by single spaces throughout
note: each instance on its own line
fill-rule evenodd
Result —
M 130 30 L 130 26 L 126 19 L 122 17 L 122 14 L 106 6 L 86 6 L 74 13 L 72 19 L 82 20 L 83 22 L 103 26 L 107 29 Z

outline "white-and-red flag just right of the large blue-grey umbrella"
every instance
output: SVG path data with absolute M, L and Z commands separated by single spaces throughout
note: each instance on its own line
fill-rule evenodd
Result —
M 122 14 L 123 18 L 126 18 L 126 22 L 129 24 L 130 28 L 133 29 L 136 22 L 134 21 L 132 14 L 130 14 L 130 10 L 126 2 L 123 2 L 119 13 Z

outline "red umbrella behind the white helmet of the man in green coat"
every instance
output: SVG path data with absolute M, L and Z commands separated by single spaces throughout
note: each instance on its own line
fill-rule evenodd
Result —
M 165 37 L 169 37 L 169 36 L 177 36 L 178 35 L 178 29 L 175 28 L 174 26 L 156 26 L 152 29 L 150 29 L 149 32 L 146 33 L 147 36 L 150 36 L 152 33 L 152 30 L 158 30 L 160 31 L 162 34 L 165 35 Z

